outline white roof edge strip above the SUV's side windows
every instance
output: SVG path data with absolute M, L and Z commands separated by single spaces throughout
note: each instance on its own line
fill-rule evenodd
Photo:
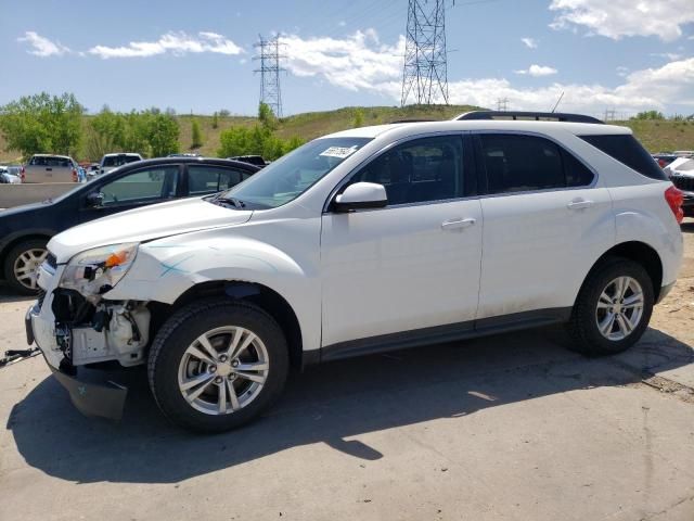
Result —
M 326 138 L 376 138 L 386 132 L 399 135 L 442 132 L 454 130 L 523 130 L 552 134 L 568 131 L 577 136 L 632 134 L 630 128 L 602 123 L 536 122 L 504 119 L 467 119 L 445 122 L 396 123 L 372 127 L 351 128 L 324 136 Z

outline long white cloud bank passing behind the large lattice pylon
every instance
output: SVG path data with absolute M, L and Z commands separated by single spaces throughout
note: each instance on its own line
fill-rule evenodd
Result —
M 296 76 L 400 101 L 403 37 L 394 45 L 384 45 L 375 31 L 367 30 L 343 39 L 303 39 L 293 35 L 283 37 L 282 42 L 286 43 L 287 54 L 284 66 Z M 490 107 L 499 98 L 509 98 L 513 109 L 548 111 L 564 91 L 561 107 L 565 111 L 602 113 L 609 107 L 638 112 L 663 110 L 672 103 L 694 106 L 694 58 L 631 73 L 619 67 L 617 73 L 625 78 L 617 87 L 552 82 L 540 88 L 517 88 L 505 78 L 450 80 L 449 101 Z

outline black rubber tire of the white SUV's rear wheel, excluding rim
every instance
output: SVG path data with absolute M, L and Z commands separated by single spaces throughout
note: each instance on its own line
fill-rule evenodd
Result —
M 639 282 L 643 291 L 643 310 L 639 323 L 626 338 L 609 340 L 600 332 L 596 310 L 603 290 L 618 277 L 631 277 Z M 643 266 L 621 257 L 606 259 L 590 272 L 578 294 L 567 325 L 570 348 L 587 356 L 614 355 L 628 350 L 648 327 L 654 302 L 653 281 Z

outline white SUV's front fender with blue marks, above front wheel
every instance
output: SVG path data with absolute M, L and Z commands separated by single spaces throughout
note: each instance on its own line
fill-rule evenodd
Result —
M 256 230 L 260 228 L 266 227 Z M 172 304 L 187 290 L 203 282 L 258 283 L 292 305 L 304 350 L 318 350 L 321 342 L 318 238 L 316 230 L 314 244 L 296 241 L 304 244 L 306 255 L 301 263 L 277 245 L 240 233 L 208 230 L 144 243 L 131 269 L 104 297 Z

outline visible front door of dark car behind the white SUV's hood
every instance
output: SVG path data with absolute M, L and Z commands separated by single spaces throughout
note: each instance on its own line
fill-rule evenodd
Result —
M 180 193 L 181 169 L 180 164 L 157 165 L 128 171 L 116 178 L 106 177 L 93 181 L 95 186 L 88 193 L 100 192 L 103 194 L 103 203 L 100 206 L 90 206 L 85 198 L 80 220 L 86 223 L 126 209 L 176 199 Z

